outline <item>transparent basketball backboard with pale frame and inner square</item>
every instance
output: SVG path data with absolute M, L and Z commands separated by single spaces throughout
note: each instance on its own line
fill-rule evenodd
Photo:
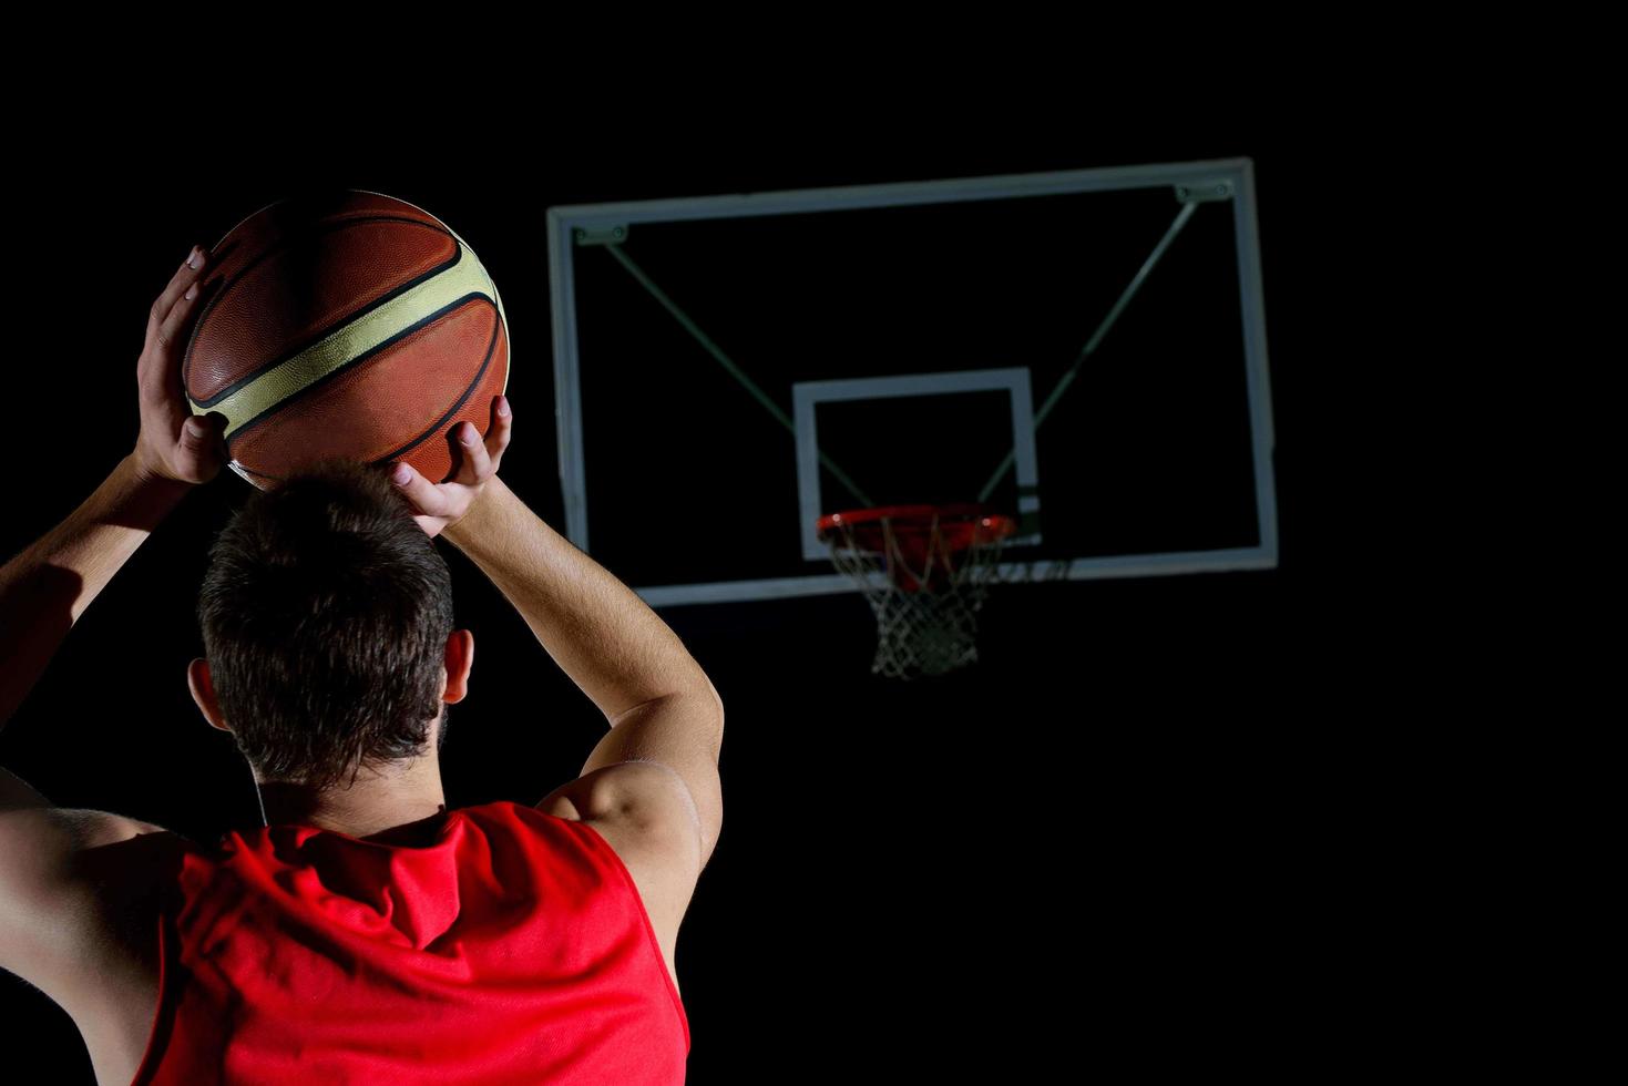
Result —
M 822 513 L 983 501 L 998 580 L 1276 565 L 1247 158 L 552 207 L 565 529 L 651 606 L 851 593 Z

